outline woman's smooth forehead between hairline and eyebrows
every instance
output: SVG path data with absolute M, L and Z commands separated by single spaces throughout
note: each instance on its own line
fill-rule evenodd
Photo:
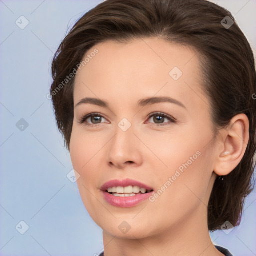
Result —
M 188 46 L 156 37 L 128 43 L 105 41 L 89 49 L 85 58 L 75 77 L 74 103 L 84 96 L 124 104 L 155 94 L 186 101 L 198 100 L 196 94 L 202 94 L 200 63 Z

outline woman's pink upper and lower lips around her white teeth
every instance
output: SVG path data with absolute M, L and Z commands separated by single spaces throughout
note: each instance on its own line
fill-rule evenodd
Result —
M 100 190 L 102 190 L 103 196 L 105 200 L 110 203 L 113 206 L 117 207 L 132 207 L 137 204 L 139 204 L 141 201 L 144 201 L 148 197 L 150 197 L 153 193 L 153 191 L 144 193 L 144 194 L 136 194 L 133 196 L 127 196 L 127 197 L 119 197 L 119 196 L 114 196 L 108 192 L 106 192 L 108 187 L 113 187 L 113 186 L 139 186 L 139 187 L 144 187 L 146 190 L 152 190 L 153 188 L 139 182 L 133 179 L 124 179 L 124 180 L 110 180 L 106 183 L 104 183 L 101 187 Z

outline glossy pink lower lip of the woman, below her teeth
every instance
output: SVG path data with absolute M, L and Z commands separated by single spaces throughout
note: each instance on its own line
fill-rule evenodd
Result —
M 124 208 L 133 207 L 139 204 L 140 202 L 150 197 L 153 193 L 153 191 L 151 191 L 145 194 L 136 194 L 132 196 L 121 197 L 121 196 L 115 196 L 115 195 L 109 194 L 108 192 L 105 192 L 105 191 L 102 191 L 102 192 L 105 200 L 108 203 L 110 203 L 113 206 L 124 207 Z

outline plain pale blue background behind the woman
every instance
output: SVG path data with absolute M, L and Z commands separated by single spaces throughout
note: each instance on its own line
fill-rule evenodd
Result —
M 94 255 L 103 250 L 102 230 L 88 215 L 69 152 L 46 98 L 53 53 L 68 27 L 102 0 L 0 1 L 0 255 Z M 256 1 L 217 0 L 230 10 L 256 48 Z M 20 29 L 15 21 L 29 21 Z M 255 91 L 256 92 L 256 91 Z M 28 127 L 16 123 L 24 118 Z M 256 255 L 256 193 L 246 199 L 241 224 L 229 234 L 211 233 L 234 256 Z M 15 226 L 25 221 L 22 235 Z M 24 225 L 23 225 L 24 227 Z

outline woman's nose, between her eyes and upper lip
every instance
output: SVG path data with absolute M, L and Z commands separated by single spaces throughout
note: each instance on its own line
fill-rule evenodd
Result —
M 111 167 L 123 169 L 142 164 L 141 142 L 133 132 L 132 126 L 126 131 L 117 126 L 108 145 L 108 164 Z

